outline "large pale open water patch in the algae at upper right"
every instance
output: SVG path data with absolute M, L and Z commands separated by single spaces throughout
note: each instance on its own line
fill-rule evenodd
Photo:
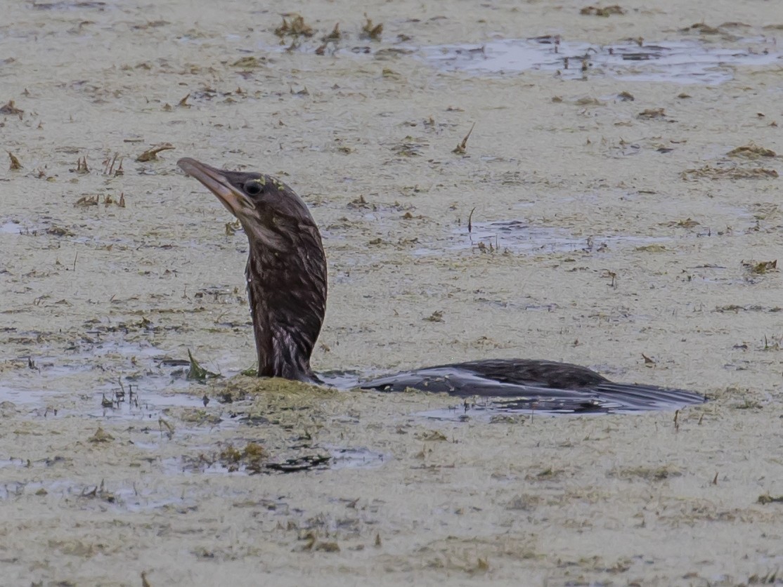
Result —
M 425 59 L 449 71 L 470 74 L 518 74 L 539 70 L 563 79 L 609 76 L 621 81 L 666 81 L 717 85 L 731 80 L 733 68 L 780 63 L 774 39 L 749 38 L 748 48 L 706 45 L 701 41 L 627 41 L 593 45 L 560 37 L 498 39 L 484 45 L 435 45 Z

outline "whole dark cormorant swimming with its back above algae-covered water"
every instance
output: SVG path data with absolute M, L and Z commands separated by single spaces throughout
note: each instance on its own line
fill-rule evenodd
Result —
M 327 261 L 307 205 L 270 175 L 226 171 L 189 157 L 177 165 L 214 193 L 247 235 L 245 273 L 258 376 L 321 383 L 310 367 L 310 355 L 326 312 Z M 705 402 L 691 391 L 615 384 L 586 367 L 529 359 L 427 367 L 365 381 L 360 387 L 478 395 L 509 409 L 557 412 L 674 409 Z

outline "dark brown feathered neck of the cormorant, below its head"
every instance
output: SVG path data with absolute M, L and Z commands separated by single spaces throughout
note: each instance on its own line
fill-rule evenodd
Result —
M 326 311 L 327 265 L 317 229 L 305 236 L 287 250 L 251 243 L 246 275 L 258 376 L 319 382 L 310 355 Z

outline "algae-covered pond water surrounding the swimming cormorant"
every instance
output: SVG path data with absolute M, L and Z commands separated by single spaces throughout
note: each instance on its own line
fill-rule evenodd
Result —
M 783 9 L 584 7 L 5 7 L 0 130 L 23 167 L 0 171 L 3 582 L 735 585 L 781 567 L 781 286 L 758 264 L 781 251 Z M 286 51 L 294 9 L 316 33 Z M 597 58 L 436 57 L 556 35 Z M 634 44 L 660 57 L 622 59 Z M 713 402 L 484 417 L 231 379 L 254 355 L 247 246 L 183 156 L 280 175 L 312 207 L 319 371 L 529 356 Z M 226 377 L 187 380 L 188 350 Z

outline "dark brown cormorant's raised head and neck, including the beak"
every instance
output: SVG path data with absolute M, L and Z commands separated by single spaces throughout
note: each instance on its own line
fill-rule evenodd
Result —
M 327 309 L 327 260 L 307 206 L 287 185 L 260 173 L 239 173 L 180 159 L 242 223 L 247 296 L 258 375 L 318 381 L 310 355 Z

